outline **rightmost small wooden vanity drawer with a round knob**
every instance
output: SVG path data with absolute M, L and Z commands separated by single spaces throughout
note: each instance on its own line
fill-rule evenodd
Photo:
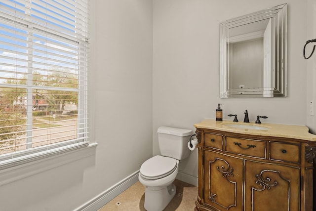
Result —
M 270 159 L 285 162 L 300 162 L 301 155 L 299 144 L 287 144 L 280 142 L 270 143 Z

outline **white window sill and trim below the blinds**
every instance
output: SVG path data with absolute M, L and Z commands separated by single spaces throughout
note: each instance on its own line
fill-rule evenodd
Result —
M 95 155 L 97 143 L 89 143 L 81 148 L 56 152 L 47 156 L 39 156 L 31 161 L 0 170 L 0 186 L 37 173 L 53 169 L 79 159 Z

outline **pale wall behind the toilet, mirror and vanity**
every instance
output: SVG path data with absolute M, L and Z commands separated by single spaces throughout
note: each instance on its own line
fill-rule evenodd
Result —
M 271 6 L 288 3 L 287 98 L 219 98 L 219 23 Z M 204 118 L 223 118 L 244 110 L 254 122 L 306 125 L 307 63 L 302 55 L 307 38 L 307 0 L 154 0 L 153 131 L 159 126 L 195 129 Z M 157 136 L 153 152 L 159 153 Z M 197 152 L 180 162 L 180 170 L 197 175 Z

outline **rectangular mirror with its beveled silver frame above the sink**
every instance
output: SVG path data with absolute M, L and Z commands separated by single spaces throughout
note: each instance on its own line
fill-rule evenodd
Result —
M 220 23 L 220 97 L 286 97 L 287 4 Z

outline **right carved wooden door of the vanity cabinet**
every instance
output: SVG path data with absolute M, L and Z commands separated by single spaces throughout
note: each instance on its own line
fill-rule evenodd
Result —
M 245 211 L 299 211 L 300 169 L 245 161 Z

